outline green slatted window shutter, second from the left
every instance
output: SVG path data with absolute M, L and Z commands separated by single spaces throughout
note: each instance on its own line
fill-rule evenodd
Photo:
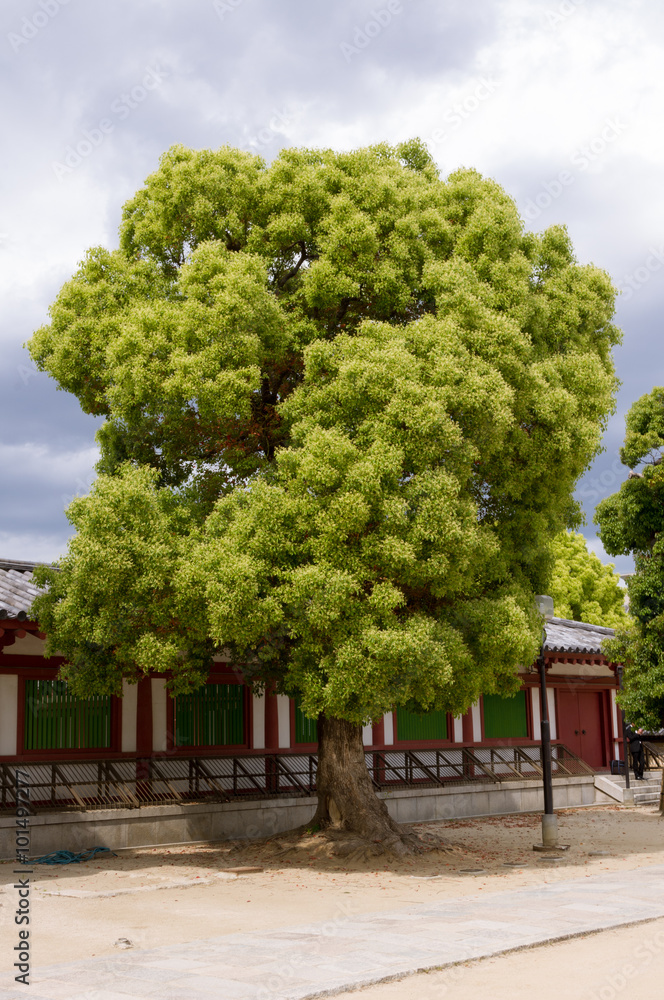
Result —
M 244 744 L 242 684 L 206 684 L 175 698 L 177 747 L 242 746 Z

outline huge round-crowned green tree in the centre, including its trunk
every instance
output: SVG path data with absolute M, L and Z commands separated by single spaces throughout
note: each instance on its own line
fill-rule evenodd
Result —
M 319 719 L 318 820 L 403 849 L 361 724 L 512 693 L 612 411 L 614 290 L 418 141 L 175 147 L 30 350 L 104 414 L 37 613 L 75 690 L 227 650 Z

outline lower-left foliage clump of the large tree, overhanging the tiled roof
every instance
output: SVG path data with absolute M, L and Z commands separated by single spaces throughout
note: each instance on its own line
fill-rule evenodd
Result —
M 47 655 L 67 657 L 76 694 L 121 694 L 122 678 L 172 671 L 173 690 L 205 682 L 213 646 L 201 609 L 174 586 L 173 566 L 192 540 L 191 518 L 157 474 L 123 466 L 99 476 L 67 511 L 76 528 L 59 569 L 40 566 L 48 591 L 34 603 Z

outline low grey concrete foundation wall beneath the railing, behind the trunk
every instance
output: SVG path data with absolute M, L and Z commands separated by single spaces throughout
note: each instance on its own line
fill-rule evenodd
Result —
M 592 775 L 556 778 L 553 784 L 557 809 L 614 801 L 596 789 Z M 498 786 L 478 783 L 457 788 L 407 788 L 380 794 L 399 823 L 543 809 L 542 788 L 530 781 L 510 781 Z M 283 797 L 143 809 L 91 809 L 87 813 L 40 813 L 29 820 L 29 853 L 36 857 L 52 851 L 81 851 L 88 847 L 119 849 L 267 837 L 308 823 L 315 810 L 314 797 Z M 0 817 L 0 858 L 15 857 L 15 833 L 14 816 Z

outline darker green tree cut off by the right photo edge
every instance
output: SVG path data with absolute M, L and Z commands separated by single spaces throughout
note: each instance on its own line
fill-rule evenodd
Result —
M 625 665 L 621 703 L 634 722 L 664 724 L 664 387 L 627 414 L 621 461 L 632 470 L 618 493 L 602 500 L 595 519 L 611 555 L 634 557 L 628 580 L 632 624 L 607 652 Z

